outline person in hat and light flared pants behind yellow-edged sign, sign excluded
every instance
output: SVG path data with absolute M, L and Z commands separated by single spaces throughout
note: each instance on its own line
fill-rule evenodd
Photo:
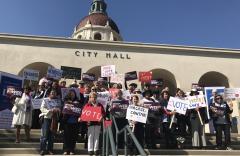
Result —
M 199 95 L 196 89 L 192 89 L 190 96 Z M 189 110 L 190 122 L 192 129 L 192 147 L 206 148 L 206 136 L 205 136 L 205 121 L 207 121 L 207 114 L 205 107 L 196 107 L 195 109 Z

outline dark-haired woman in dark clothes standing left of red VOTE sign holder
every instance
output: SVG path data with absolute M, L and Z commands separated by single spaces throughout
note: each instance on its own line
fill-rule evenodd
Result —
M 79 132 L 78 117 L 81 114 L 83 104 L 79 102 L 77 94 L 74 89 L 69 90 L 64 98 L 63 106 L 63 151 L 64 155 L 75 153 L 76 142 Z

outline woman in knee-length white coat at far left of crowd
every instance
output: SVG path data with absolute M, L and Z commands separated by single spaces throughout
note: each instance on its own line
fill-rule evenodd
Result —
M 30 127 L 32 124 L 32 104 L 30 96 L 31 87 L 25 87 L 21 98 L 16 98 L 13 107 L 12 125 L 16 128 L 16 143 L 20 143 L 20 130 L 25 128 L 26 140 L 30 140 Z

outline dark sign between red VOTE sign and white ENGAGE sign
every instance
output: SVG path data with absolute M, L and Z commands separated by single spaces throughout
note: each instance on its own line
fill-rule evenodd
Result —
M 118 99 L 112 100 L 111 113 L 116 118 L 125 118 L 128 106 L 129 106 L 128 100 L 118 100 Z

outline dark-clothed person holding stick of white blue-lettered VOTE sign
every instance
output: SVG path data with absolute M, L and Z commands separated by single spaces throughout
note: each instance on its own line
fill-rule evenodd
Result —
M 170 98 L 170 94 L 167 90 L 161 92 L 161 101 L 160 104 L 162 106 L 162 126 L 163 126 L 163 134 L 165 140 L 166 148 L 177 148 L 176 141 L 176 127 L 177 127 L 177 119 L 175 118 L 175 111 L 167 110 L 168 101 Z M 170 127 L 170 123 L 172 125 Z

